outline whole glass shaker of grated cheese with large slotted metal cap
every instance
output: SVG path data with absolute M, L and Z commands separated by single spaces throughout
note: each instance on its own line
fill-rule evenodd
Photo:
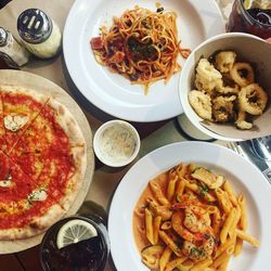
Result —
M 24 46 L 37 57 L 51 59 L 61 49 L 59 26 L 41 10 L 28 9 L 21 13 L 17 30 Z

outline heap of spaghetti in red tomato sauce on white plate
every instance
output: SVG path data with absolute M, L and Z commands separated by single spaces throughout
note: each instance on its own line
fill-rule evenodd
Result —
M 109 30 L 90 41 L 99 64 L 145 86 L 170 77 L 180 70 L 179 54 L 186 59 L 190 49 L 178 40 L 177 13 L 158 8 L 156 12 L 136 7 L 113 18 Z

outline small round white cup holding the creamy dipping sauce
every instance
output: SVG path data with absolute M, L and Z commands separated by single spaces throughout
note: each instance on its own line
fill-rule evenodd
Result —
M 129 130 L 129 132 L 132 134 L 134 142 L 136 142 L 136 146 L 133 150 L 133 153 L 130 157 L 128 157 L 127 159 L 122 159 L 121 162 L 114 162 L 113 159 L 106 158 L 105 156 L 102 155 L 102 150 L 101 150 L 101 136 L 103 134 L 103 132 L 111 128 L 111 127 L 116 127 L 116 126 L 124 126 L 125 128 L 127 128 Z M 95 132 L 94 138 L 93 138 L 93 147 L 94 147 L 94 153 L 96 155 L 96 157 L 105 165 L 111 166 L 111 167 L 122 167 L 126 166 L 128 164 L 130 164 L 138 155 L 139 150 L 140 150 L 140 137 L 138 131 L 136 130 L 136 128 L 130 125 L 127 121 L 124 120 L 111 120 L 107 121 L 105 124 L 103 124 Z

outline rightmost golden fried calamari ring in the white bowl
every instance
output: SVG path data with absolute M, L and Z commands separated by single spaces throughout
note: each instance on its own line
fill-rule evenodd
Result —
M 268 103 L 267 92 L 258 85 L 250 83 L 238 93 L 241 108 L 251 115 L 261 115 Z

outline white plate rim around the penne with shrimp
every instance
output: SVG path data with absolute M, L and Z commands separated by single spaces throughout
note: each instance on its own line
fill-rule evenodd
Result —
M 223 146 L 203 142 L 181 142 L 163 146 L 141 158 L 126 173 L 112 201 L 108 233 L 112 257 L 118 271 L 149 270 L 140 259 L 132 234 L 132 211 L 147 185 L 157 175 L 180 163 L 205 165 L 230 179 L 236 193 L 247 199 L 247 232 L 260 241 L 260 247 L 244 244 L 229 270 L 267 270 L 270 263 L 271 186 L 253 164 Z

